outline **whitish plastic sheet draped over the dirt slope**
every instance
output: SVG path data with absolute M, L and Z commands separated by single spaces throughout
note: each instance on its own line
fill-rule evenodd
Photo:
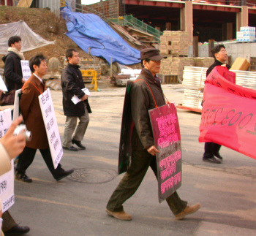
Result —
M 18 35 L 21 38 L 21 52 L 34 50 L 38 47 L 53 45 L 55 41 L 48 41 L 40 37 L 29 28 L 23 21 L 0 25 L 0 54 L 6 54 L 8 49 L 8 39 Z

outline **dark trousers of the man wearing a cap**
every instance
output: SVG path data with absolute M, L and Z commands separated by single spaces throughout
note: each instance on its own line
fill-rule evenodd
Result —
M 147 151 L 133 151 L 132 164 L 110 197 L 107 205 L 108 210 L 116 212 L 124 210 L 123 203 L 135 194 L 146 175 L 148 167 L 151 167 L 157 177 L 156 157 L 151 156 Z M 181 200 L 177 192 L 168 197 L 166 202 L 174 215 L 181 213 L 187 206 L 187 202 Z

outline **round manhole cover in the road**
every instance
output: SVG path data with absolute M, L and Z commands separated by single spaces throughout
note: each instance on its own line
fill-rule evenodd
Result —
M 117 172 L 108 169 L 75 169 L 69 179 L 80 183 L 106 183 L 116 178 Z

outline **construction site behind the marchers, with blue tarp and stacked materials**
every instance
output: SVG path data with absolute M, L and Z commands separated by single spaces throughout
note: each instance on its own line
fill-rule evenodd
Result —
M 227 63 L 243 78 L 237 84 L 255 89 L 255 1 L 106 0 L 85 5 L 81 1 L 1 0 L 1 5 L 0 23 L 23 20 L 42 38 L 55 42 L 32 50 L 23 47 L 26 58 L 39 51 L 48 57 L 45 80 L 53 89 L 61 88 L 61 70 L 67 64 L 64 51 L 69 47 L 78 48 L 84 81 L 95 91 L 98 85 L 100 89 L 103 84 L 125 85 L 134 80 L 141 69 L 139 51 L 156 47 L 167 56 L 158 75 L 162 83 L 183 83 L 187 86 L 183 106 L 200 111 L 206 69 L 214 62 L 211 48 L 219 43 L 227 49 Z M 4 43 L 1 46 L 7 50 Z M 4 56 L 4 50 L 0 53 Z

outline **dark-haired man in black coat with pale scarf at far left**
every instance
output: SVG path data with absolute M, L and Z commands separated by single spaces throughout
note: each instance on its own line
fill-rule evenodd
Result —
M 8 91 L 20 89 L 25 82 L 22 75 L 21 60 L 25 60 L 21 50 L 21 39 L 18 36 L 8 40 L 8 53 L 2 58 L 4 61 L 4 80 Z

